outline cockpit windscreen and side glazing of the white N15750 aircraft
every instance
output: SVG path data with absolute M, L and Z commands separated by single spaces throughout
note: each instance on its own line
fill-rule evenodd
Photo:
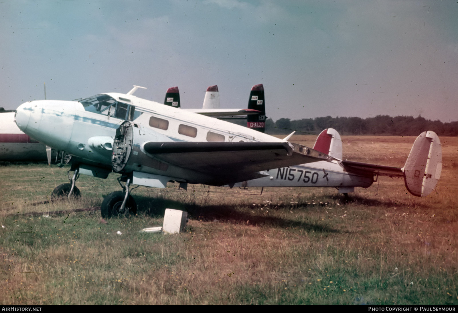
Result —
M 109 95 L 95 95 L 79 101 L 86 111 L 113 116 L 118 119 L 133 120 L 142 113 L 135 106 L 116 101 Z

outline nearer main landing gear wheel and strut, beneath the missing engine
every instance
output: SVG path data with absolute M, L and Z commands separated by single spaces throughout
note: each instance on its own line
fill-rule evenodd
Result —
M 114 191 L 107 195 L 104 198 L 104 202 L 102 202 L 102 206 L 100 206 L 100 213 L 103 218 L 135 215 L 137 212 L 137 205 L 129 190 L 131 178 L 126 178 L 124 185 L 122 185 L 121 180 L 123 178 L 118 178 L 123 191 Z

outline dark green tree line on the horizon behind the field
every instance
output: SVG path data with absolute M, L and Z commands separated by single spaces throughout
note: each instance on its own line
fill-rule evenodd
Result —
M 361 119 L 359 117 L 318 117 L 315 119 L 273 119 L 266 121 L 267 134 L 289 134 L 296 130 L 299 134 L 318 135 L 322 130 L 333 128 L 340 135 L 399 135 L 417 136 L 425 130 L 432 130 L 439 136 L 458 136 L 458 121 L 442 123 L 421 115 L 395 116 L 377 115 Z

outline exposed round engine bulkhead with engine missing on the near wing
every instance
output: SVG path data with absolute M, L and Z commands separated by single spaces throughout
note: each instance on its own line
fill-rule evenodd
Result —
M 124 169 L 129 156 L 131 155 L 132 143 L 134 140 L 133 125 L 125 121 L 116 130 L 113 144 L 112 165 L 114 172 L 120 172 Z

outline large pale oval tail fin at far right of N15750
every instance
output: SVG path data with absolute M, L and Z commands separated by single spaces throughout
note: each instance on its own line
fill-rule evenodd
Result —
M 421 133 L 403 167 L 404 182 L 413 195 L 424 197 L 436 187 L 442 172 L 441 140 L 433 131 Z

